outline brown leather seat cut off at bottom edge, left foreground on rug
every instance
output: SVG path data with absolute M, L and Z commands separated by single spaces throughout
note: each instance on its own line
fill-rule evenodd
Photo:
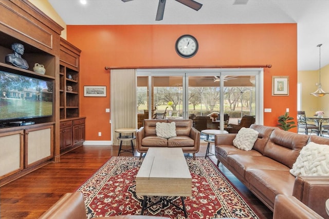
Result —
M 66 193 L 49 208 L 39 219 L 87 219 L 83 195 L 81 192 Z M 97 217 L 100 219 L 167 219 L 169 217 L 122 215 L 111 217 Z

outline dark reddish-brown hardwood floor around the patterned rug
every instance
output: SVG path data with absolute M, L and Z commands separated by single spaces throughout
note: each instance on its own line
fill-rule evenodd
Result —
M 202 144 L 197 156 L 204 156 L 206 147 Z M 85 145 L 62 155 L 60 163 L 48 164 L 0 187 L 0 218 L 38 218 L 65 193 L 76 191 L 110 156 L 117 156 L 118 148 Z M 210 152 L 213 151 L 212 145 Z M 135 152 L 134 155 L 139 156 L 139 153 Z M 124 152 L 121 156 L 132 156 L 132 153 Z M 217 162 L 215 156 L 210 158 Z M 263 218 L 272 218 L 272 212 L 257 197 L 223 165 L 219 167 Z

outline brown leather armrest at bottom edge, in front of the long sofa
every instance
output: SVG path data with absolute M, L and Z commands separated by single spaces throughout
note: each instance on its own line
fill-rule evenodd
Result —
M 273 219 L 322 218 L 294 196 L 277 195 L 274 203 Z

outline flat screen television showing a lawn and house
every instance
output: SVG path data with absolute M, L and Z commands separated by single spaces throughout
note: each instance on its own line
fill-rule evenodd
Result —
M 53 114 L 51 81 L 0 71 L 0 122 Z

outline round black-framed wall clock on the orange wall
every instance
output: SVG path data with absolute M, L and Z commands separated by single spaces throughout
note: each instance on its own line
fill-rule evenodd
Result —
M 176 52 L 183 58 L 190 58 L 196 54 L 198 43 L 192 35 L 182 35 L 176 41 Z

